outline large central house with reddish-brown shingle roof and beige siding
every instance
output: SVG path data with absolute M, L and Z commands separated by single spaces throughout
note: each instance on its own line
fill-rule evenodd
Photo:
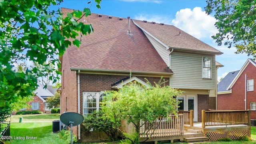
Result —
M 62 8 L 64 17 L 72 11 Z M 82 21 L 92 24 L 94 32 L 82 37 L 80 48 L 70 46 L 60 57 L 61 113 L 86 116 L 100 109 L 102 91 L 131 81 L 147 86 L 144 78 L 153 84 L 161 76 L 166 85 L 184 91 L 178 96 L 179 110 L 194 109 L 194 121 L 201 121 L 202 110 L 216 109 L 219 50 L 172 25 L 101 14 Z M 103 139 L 80 125 L 73 132 L 86 142 Z

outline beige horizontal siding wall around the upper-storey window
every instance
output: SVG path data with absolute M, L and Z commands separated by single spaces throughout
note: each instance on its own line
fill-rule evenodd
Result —
M 215 90 L 215 56 L 212 58 L 212 79 L 202 79 L 202 54 L 172 52 L 170 78 L 173 88 Z

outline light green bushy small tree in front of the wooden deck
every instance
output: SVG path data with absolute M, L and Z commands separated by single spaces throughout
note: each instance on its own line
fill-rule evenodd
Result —
M 164 84 L 163 79 L 148 89 L 138 83 L 130 83 L 119 91 L 107 92 L 106 98 L 104 98 L 102 103 L 104 116 L 110 118 L 112 122 L 124 119 L 134 124 L 134 136 L 123 134 L 123 137 L 129 139 L 133 144 L 139 142 L 140 134 L 148 134 L 148 131 L 140 133 L 140 128 L 146 123 L 154 129 L 153 122 L 159 116 L 168 117 L 170 114 L 177 114 L 175 97 L 181 95 L 181 92 L 170 88 L 170 86 L 162 86 L 162 84 Z M 144 123 L 140 123 L 141 120 Z M 118 126 L 116 128 L 118 129 Z

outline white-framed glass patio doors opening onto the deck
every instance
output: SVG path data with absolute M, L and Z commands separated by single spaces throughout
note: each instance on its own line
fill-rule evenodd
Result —
M 197 95 L 182 95 L 178 96 L 180 101 L 178 110 L 194 110 L 194 122 L 197 122 Z

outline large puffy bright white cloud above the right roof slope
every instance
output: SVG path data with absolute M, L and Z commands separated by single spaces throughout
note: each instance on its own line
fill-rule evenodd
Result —
M 214 26 L 216 19 L 207 15 L 202 8 L 195 7 L 181 9 L 176 13 L 176 18 L 172 20 L 174 26 L 184 30 L 188 34 L 200 39 L 211 38 L 218 32 Z

